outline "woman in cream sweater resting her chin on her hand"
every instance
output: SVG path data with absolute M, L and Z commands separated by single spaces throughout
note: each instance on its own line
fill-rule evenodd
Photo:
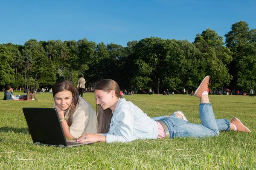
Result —
M 120 94 L 120 93 L 119 93 Z M 84 133 L 97 133 L 97 115 L 90 103 L 79 96 L 75 86 L 67 81 L 52 87 L 53 108 L 58 111 L 64 135 L 76 139 Z

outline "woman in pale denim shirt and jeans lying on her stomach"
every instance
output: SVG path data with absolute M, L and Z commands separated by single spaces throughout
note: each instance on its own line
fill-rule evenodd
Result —
M 219 130 L 208 98 L 209 76 L 205 77 L 195 91 L 200 98 L 199 112 L 202 125 L 184 120 L 176 114 L 154 121 L 132 102 L 126 101 L 119 93 L 119 85 L 112 79 L 103 79 L 95 86 L 98 105 L 98 132 L 86 133 L 80 142 L 130 142 L 136 139 L 157 139 L 176 137 L 218 136 Z M 100 107 L 99 107 L 100 106 Z M 247 127 L 234 119 L 236 128 Z

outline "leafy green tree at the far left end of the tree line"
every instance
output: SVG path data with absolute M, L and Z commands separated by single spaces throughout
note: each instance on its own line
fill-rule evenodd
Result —
M 15 82 L 15 73 L 11 67 L 12 62 L 13 59 L 8 48 L 0 44 L 0 85 Z

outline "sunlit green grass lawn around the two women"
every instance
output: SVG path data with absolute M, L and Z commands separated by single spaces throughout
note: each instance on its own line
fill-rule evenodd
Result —
M 18 94 L 18 93 L 15 93 Z M 52 94 L 39 101 L 0 100 L 0 169 L 256 169 L 256 97 L 209 96 L 216 119 L 238 117 L 252 133 L 221 132 L 218 137 L 94 143 L 61 148 L 32 143 L 23 107 L 52 108 Z M 84 98 L 95 109 L 93 93 Z M 125 96 L 150 117 L 181 110 L 200 123 L 199 99 L 189 95 Z M 3 99 L 3 92 L 0 92 Z

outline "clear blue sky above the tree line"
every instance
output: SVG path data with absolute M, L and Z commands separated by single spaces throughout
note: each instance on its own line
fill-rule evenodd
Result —
M 233 23 L 256 28 L 255 0 L 0 0 L 0 44 L 29 39 L 116 43 L 147 37 L 189 40 Z

